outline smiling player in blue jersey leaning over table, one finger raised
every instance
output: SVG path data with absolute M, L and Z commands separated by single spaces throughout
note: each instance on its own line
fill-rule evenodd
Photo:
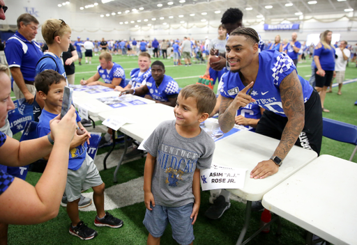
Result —
M 308 81 L 298 76 L 287 56 L 275 50 L 258 52 L 259 36 L 254 29 L 241 27 L 227 40 L 227 60 L 231 72 L 220 93 L 223 132 L 234 126 L 234 116 L 250 103 L 266 109 L 256 132 L 280 139 L 271 159 L 261 161 L 250 177 L 261 179 L 278 172 L 294 143 L 319 154 L 322 140 L 322 110 L 319 96 Z M 249 94 L 248 93 L 249 91 Z

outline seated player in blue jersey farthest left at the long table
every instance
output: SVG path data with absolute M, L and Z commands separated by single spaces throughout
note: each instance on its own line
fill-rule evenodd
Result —
M 98 72 L 87 80 L 81 80 L 81 85 L 93 86 L 101 85 L 108 88 L 115 88 L 126 86 L 126 73 L 121 65 L 112 62 L 112 54 L 109 52 L 102 52 L 99 56 Z M 102 81 L 98 81 L 102 78 Z

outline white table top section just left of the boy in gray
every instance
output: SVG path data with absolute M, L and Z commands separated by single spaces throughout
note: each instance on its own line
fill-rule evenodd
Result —
M 139 142 L 148 138 L 160 122 L 175 119 L 174 107 L 158 103 L 121 107 L 99 113 L 98 117 L 105 120 L 114 115 L 123 115 L 128 120 L 135 121 L 123 125 L 119 130 Z

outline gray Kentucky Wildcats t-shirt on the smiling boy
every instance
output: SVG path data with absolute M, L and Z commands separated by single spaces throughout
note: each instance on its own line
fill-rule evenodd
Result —
M 193 174 L 196 168 L 211 168 L 215 143 L 204 130 L 193 138 L 184 138 L 175 128 L 175 120 L 160 123 L 144 143 L 156 157 L 151 182 L 155 204 L 181 207 L 193 203 Z

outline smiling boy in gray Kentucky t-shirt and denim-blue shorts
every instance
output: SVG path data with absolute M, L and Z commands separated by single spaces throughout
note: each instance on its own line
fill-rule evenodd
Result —
M 147 244 L 159 244 L 167 222 L 179 244 L 193 244 L 200 204 L 199 169 L 211 168 L 215 143 L 199 127 L 215 106 L 213 90 L 192 84 L 181 90 L 176 120 L 162 122 L 144 143 L 144 226 Z

